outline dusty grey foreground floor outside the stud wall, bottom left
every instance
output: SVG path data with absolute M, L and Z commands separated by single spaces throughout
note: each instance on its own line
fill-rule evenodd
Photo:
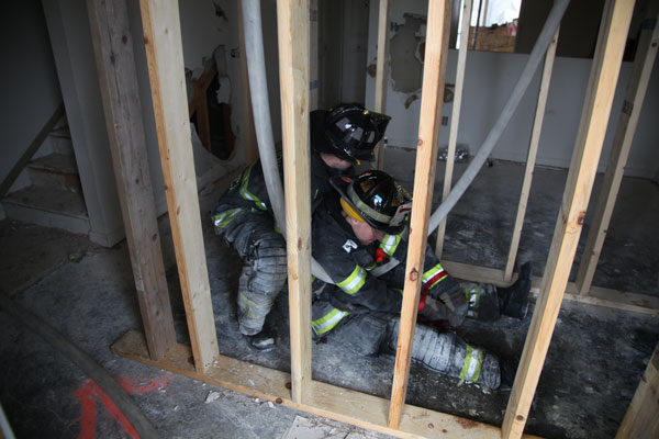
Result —
M 38 236 L 37 228 L 0 222 L 3 243 L 9 237 Z M 44 239 L 60 237 L 53 240 L 55 247 L 43 249 L 59 255 L 53 258 L 56 269 L 45 270 L 40 279 L 38 273 L 44 273 L 40 263 L 34 285 L 12 299 L 124 384 L 164 438 L 281 438 L 297 415 L 331 425 L 342 437 L 382 437 L 114 356 L 109 349 L 114 340 L 131 328 L 141 330 L 125 243 L 104 249 L 63 232 L 42 228 L 41 233 Z M 70 254 L 63 251 L 64 241 L 76 243 L 67 248 Z M 3 245 L 0 254 L 2 294 L 10 293 L 5 285 L 14 283 L 8 266 L 27 260 L 10 250 Z M 82 256 L 72 261 L 69 255 Z M 176 306 L 174 296 L 180 296 L 176 275 L 170 291 Z M 118 423 L 116 410 L 78 367 L 5 311 L 0 316 L 0 402 L 16 438 L 131 437 Z M 179 320 L 178 327 L 185 340 L 185 324 Z M 219 397 L 206 404 L 211 392 Z

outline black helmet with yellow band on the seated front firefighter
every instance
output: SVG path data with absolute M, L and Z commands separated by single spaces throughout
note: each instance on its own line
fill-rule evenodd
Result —
M 340 205 L 350 217 L 389 235 L 396 235 L 405 227 L 412 196 L 388 173 L 371 170 L 354 179 L 336 176 L 331 183 L 340 194 Z

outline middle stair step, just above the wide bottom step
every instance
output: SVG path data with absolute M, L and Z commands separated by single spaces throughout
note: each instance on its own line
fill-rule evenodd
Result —
M 67 154 L 51 154 L 32 160 L 27 168 L 33 185 L 82 193 L 76 159 Z

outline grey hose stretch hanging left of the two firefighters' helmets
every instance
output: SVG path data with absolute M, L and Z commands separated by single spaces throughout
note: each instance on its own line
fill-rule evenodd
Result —
M 254 126 L 258 142 L 258 154 L 261 160 L 268 198 L 275 214 L 275 221 L 286 238 L 286 214 L 283 190 L 279 177 L 279 166 L 272 139 L 272 121 L 268 102 L 268 82 L 266 80 L 266 61 L 264 56 L 264 33 L 261 25 L 260 1 L 243 0 L 243 29 L 245 33 L 245 56 L 249 76 L 249 94 L 254 112 Z M 324 282 L 332 279 L 323 267 L 311 258 L 311 272 Z

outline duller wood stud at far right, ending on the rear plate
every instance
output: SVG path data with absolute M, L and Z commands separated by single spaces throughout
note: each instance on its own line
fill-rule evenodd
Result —
M 636 49 L 636 57 L 632 68 L 632 75 L 625 99 L 623 101 L 623 111 L 618 120 L 617 128 L 613 139 L 613 148 L 602 189 L 600 190 L 600 199 L 595 207 L 595 216 L 593 218 L 591 229 L 585 241 L 583 250 L 583 259 L 577 272 L 577 288 L 579 294 L 585 295 L 590 291 L 613 207 L 615 199 L 621 188 L 625 164 L 632 149 L 634 134 L 636 134 L 636 125 L 643 106 L 650 74 L 655 59 L 657 58 L 657 44 L 659 44 L 659 26 L 657 26 L 657 9 L 658 1 L 648 2 L 648 11 L 646 20 L 641 25 L 640 37 Z

